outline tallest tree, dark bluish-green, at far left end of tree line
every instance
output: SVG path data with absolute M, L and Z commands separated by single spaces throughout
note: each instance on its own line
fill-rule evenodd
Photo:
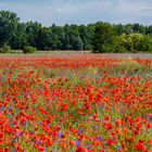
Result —
M 15 35 L 20 18 L 15 13 L 0 11 L 0 47 L 4 43 L 11 46 L 11 39 Z

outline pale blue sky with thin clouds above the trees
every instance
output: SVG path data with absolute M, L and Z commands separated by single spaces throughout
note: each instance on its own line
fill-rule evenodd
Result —
M 0 10 L 45 26 L 98 21 L 152 25 L 152 0 L 0 0 Z

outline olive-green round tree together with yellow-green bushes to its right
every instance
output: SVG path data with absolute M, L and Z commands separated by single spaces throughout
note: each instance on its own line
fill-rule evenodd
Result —
M 128 25 L 130 26 L 130 25 Z M 141 26 L 135 24 L 135 29 Z M 116 36 L 111 25 L 97 24 L 93 39 L 94 52 L 152 52 L 152 38 L 142 34 Z

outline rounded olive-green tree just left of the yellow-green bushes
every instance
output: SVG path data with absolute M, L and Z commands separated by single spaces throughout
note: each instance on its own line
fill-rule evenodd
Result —
M 116 34 L 107 23 L 97 23 L 93 37 L 93 52 L 111 52 Z

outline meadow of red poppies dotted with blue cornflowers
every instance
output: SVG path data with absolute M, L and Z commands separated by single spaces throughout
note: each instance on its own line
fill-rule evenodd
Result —
M 0 152 L 152 152 L 152 60 L 0 58 Z

